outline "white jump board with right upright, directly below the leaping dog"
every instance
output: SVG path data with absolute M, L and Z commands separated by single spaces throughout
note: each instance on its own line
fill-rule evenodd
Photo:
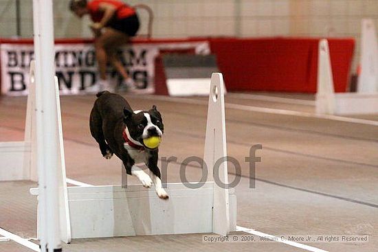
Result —
M 65 213 L 69 214 L 66 220 L 70 220 L 71 227 L 60 221 L 60 230 L 71 231 L 73 239 L 177 233 L 226 235 L 236 230 L 234 190 L 220 187 L 212 176 L 214 163 L 227 156 L 223 91 L 221 73 L 213 73 L 204 152 L 209 176 L 201 187 L 190 189 L 186 183 L 168 183 L 168 200 L 158 198 L 154 188 L 142 185 L 67 187 L 69 211 Z M 221 163 L 218 173 L 222 183 L 227 183 L 226 162 Z M 36 195 L 38 189 L 30 192 Z

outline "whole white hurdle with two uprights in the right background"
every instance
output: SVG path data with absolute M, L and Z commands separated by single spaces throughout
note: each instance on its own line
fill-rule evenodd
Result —
M 330 115 L 378 113 L 378 45 L 373 21 L 362 21 L 362 30 L 362 73 L 359 77 L 358 93 L 335 93 L 328 41 L 326 39 L 320 41 L 317 113 Z

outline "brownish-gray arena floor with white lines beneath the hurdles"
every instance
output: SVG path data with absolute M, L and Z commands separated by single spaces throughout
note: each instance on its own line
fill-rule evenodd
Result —
M 260 94 L 260 93 L 259 93 Z M 265 94 L 266 95 L 266 94 Z M 313 100 L 313 95 L 272 94 Z M 194 104 L 153 95 L 125 95 L 133 108 L 156 104 L 166 128 L 160 156 L 176 156 L 168 168 L 168 181 L 179 181 L 179 164 L 186 157 L 203 156 L 207 98 L 190 98 Z M 94 95 L 63 96 L 63 133 L 67 176 L 94 185 L 121 183 L 120 161 L 100 155 L 89 134 L 89 112 Z M 25 98 L 0 98 L 0 141 L 23 139 Z M 198 101 L 198 104 L 195 104 Z M 311 104 L 290 104 L 240 99 L 230 94 L 229 104 L 313 113 Z M 378 115 L 353 115 L 377 120 Z M 377 251 L 378 248 L 378 128 L 314 117 L 296 117 L 227 109 L 228 154 L 241 163 L 241 183 L 236 186 L 239 226 L 271 235 L 368 235 L 366 243 L 310 243 L 328 251 Z M 256 188 L 249 188 L 249 148 L 257 153 Z M 1 165 L 1 164 L 0 164 Z M 230 165 L 231 166 L 231 165 Z M 195 165 L 188 178 L 199 179 Z M 230 180 L 234 169 L 229 168 Z M 130 183 L 137 183 L 129 178 Z M 22 237 L 36 236 L 36 200 L 29 181 L 0 183 L 0 227 Z M 201 242 L 202 234 L 141 236 L 74 240 L 64 251 L 304 251 L 276 242 Z M 0 251 L 27 251 L 14 242 L 0 244 Z

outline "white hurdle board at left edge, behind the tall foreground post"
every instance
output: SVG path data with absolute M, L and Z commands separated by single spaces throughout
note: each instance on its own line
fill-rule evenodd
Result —
M 30 143 L 0 142 L 0 181 L 29 180 Z

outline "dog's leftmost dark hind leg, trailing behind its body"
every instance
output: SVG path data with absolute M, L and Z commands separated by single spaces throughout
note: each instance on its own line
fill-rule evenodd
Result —
M 100 151 L 102 157 L 105 159 L 111 159 L 113 156 L 113 151 L 108 146 L 104 138 L 104 133 L 102 132 L 102 120 L 95 115 L 94 110 L 91 111 L 91 119 L 89 121 L 89 128 L 91 129 L 91 135 L 98 142 L 100 146 Z

